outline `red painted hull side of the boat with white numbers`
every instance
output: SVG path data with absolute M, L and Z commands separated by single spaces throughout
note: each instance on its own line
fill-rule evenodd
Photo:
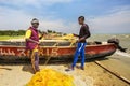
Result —
M 40 46 L 40 58 L 46 57 L 72 57 L 76 51 L 76 46 Z M 116 52 L 115 44 L 102 44 L 102 45 L 87 45 L 86 57 L 95 58 L 112 55 Z M 28 57 L 28 53 L 25 46 L 15 45 L 0 45 L 0 58 L 25 58 Z

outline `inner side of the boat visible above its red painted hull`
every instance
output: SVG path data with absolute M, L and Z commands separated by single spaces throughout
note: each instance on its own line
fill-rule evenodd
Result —
M 99 45 L 103 44 L 103 42 L 94 41 L 88 42 L 87 45 Z M 11 45 L 11 46 L 25 46 L 25 41 L 0 41 L 0 45 Z M 75 46 L 76 43 L 72 43 L 69 41 L 62 40 L 46 40 L 40 42 L 41 46 Z

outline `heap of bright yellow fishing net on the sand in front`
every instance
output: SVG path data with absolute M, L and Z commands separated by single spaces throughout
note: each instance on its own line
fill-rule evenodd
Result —
M 26 86 L 75 86 L 73 76 L 52 69 L 37 72 Z

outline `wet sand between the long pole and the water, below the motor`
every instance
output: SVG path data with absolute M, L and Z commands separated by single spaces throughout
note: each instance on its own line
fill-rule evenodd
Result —
M 116 54 L 107 58 L 109 59 L 101 60 L 101 62 L 117 74 L 130 80 L 130 58 L 118 56 Z

